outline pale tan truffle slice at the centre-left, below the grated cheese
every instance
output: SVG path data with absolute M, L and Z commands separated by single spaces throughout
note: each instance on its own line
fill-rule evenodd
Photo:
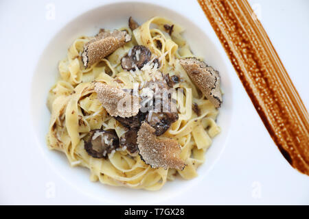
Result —
M 95 92 L 104 109 L 111 116 L 127 118 L 136 116 L 139 112 L 139 96 L 133 96 L 124 90 L 96 82 Z

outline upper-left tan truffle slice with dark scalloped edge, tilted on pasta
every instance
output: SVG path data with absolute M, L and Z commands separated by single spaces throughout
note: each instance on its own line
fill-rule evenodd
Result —
M 84 44 L 84 51 L 82 52 L 84 67 L 88 68 L 95 62 L 102 60 L 130 40 L 131 36 L 126 31 L 115 29 L 113 32 L 108 32 L 104 29 L 100 30 L 99 34 Z

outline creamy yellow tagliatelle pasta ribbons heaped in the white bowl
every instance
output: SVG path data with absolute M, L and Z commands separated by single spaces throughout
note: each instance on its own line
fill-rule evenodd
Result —
M 172 27 L 170 34 L 166 25 Z M 218 109 L 198 90 L 179 62 L 181 58 L 194 57 L 181 36 L 183 28 L 165 18 L 155 17 L 134 31 L 127 27 L 119 30 L 126 30 L 132 40 L 89 68 L 84 68 L 81 54 L 92 37 L 76 39 L 67 58 L 60 61 L 60 77 L 47 99 L 52 113 L 47 133 L 49 149 L 65 153 L 71 166 L 89 168 L 91 181 L 108 185 L 159 190 L 176 175 L 183 179 L 196 177 L 196 169 L 205 162 L 205 152 L 211 145 L 211 139 L 220 133 L 220 127 L 216 124 Z M 150 49 L 152 60 L 155 57 L 159 60 L 159 70 L 148 68 L 148 64 L 134 71 L 122 68 L 122 57 L 136 45 Z M 113 151 L 106 158 L 91 157 L 84 148 L 91 130 L 114 130 L 119 138 L 127 131 L 102 107 L 95 92 L 95 82 L 122 89 L 133 89 L 138 84 L 141 88 L 146 81 L 161 77 L 157 73 L 176 75 L 180 81 L 173 88 L 183 88 L 183 92 L 175 97 L 178 120 L 159 138 L 170 138 L 179 143 L 180 158 L 185 162 L 185 168 L 152 168 L 139 155 L 132 155 L 126 149 Z M 199 109 L 198 114 L 192 111 L 194 103 Z

